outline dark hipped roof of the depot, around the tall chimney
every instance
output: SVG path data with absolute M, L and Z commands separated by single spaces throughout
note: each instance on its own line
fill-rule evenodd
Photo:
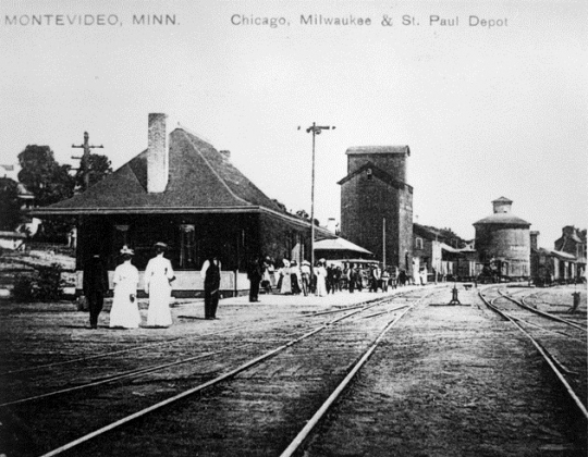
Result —
M 246 211 L 258 207 L 284 213 L 224 155 L 194 134 L 176 128 L 170 134 L 169 145 L 169 182 L 164 192 L 147 192 L 144 150 L 85 193 L 32 213 Z

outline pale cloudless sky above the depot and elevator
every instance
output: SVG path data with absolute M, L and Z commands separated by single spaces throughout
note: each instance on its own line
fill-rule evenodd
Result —
M 504 196 L 553 247 L 588 226 L 587 29 L 572 0 L 4 1 L 0 164 L 36 144 L 76 165 L 87 131 L 118 169 L 163 112 L 309 212 L 316 122 L 335 126 L 316 137 L 322 224 L 347 148 L 408 145 L 415 222 L 470 239 Z

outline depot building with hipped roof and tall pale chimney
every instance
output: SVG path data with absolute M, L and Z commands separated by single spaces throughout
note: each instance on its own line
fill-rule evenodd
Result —
M 246 269 L 257 256 L 277 262 L 310 257 L 309 221 L 259 190 L 233 166 L 229 151 L 182 127 L 168 135 L 161 113 L 149 114 L 146 150 L 85 193 L 30 212 L 77 218 L 78 288 L 94 252 L 102 255 L 112 274 L 123 245 L 134 249 L 133 263 L 142 271 L 155 243 L 166 243 L 176 276 L 173 294 L 192 297 L 204 289 L 198 273 L 212 254 L 222 262 L 223 295 L 249 288 Z M 322 227 L 315 235 L 334 237 Z

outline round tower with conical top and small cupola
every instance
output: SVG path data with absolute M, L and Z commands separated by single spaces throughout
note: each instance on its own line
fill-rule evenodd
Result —
M 493 213 L 474 223 L 479 261 L 491 264 L 501 276 L 530 275 L 530 223 L 511 212 L 513 201 L 492 201 Z

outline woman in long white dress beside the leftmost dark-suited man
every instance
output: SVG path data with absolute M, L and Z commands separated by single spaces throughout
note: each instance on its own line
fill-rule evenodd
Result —
M 110 309 L 110 326 L 138 329 L 140 313 L 137 304 L 138 270 L 131 263 L 133 250 L 123 246 L 123 263 L 114 270 L 114 298 Z

